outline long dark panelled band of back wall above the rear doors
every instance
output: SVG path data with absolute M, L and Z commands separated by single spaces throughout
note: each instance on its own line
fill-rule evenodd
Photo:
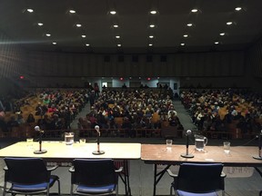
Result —
M 118 55 L 110 55 L 105 62 L 105 55 L 99 54 L 59 54 L 30 53 L 29 73 L 43 76 L 231 76 L 244 74 L 244 53 L 199 53 L 168 54 L 166 62 L 161 62 L 161 55 L 154 55 L 152 62 L 146 61 L 146 54 L 133 61 L 132 55 L 125 55 L 125 61 L 119 62 Z

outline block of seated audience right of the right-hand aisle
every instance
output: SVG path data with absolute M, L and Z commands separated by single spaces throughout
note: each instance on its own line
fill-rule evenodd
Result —
M 261 130 L 261 94 L 232 89 L 188 91 L 180 93 L 180 99 L 199 131 L 227 132 L 233 122 L 242 133 Z

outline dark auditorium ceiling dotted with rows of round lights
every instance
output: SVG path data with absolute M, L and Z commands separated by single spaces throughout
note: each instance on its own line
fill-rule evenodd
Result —
M 242 9 L 236 11 L 237 6 Z M 193 8 L 198 11 L 192 13 Z M 76 13 L 69 13 L 70 9 Z M 233 24 L 227 25 L 229 21 Z M 149 27 L 152 24 L 154 28 Z M 25 49 L 37 51 L 168 54 L 238 50 L 262 35 L 262 1 L 0 0 L 0 31 Z

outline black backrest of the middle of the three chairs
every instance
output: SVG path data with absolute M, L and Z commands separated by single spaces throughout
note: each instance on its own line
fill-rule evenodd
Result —
M 111 159 L 76 159 L 72 183 L 78 185 L 100 186 L 117 183 L 114 161 Z

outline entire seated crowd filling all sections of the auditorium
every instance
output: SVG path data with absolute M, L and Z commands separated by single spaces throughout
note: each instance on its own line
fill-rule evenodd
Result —
M 28 117 L 24 115 L 26 120 L 21 108 L 30 105 L 28 98 L 12 103 L 1 98 L 0 112 L 4 114 L 0 116 L 0 128 L 10 132 L 19 124 L 35 122 L 43 130 L 67 130 L 77 113 L 89 102 L 90 112 L 78 119 L 78 129 L 94 129 L 98 124 L 101 129 L 115 130 L 116 134 L 124 129 L 129 137 L 136 137 L 136 129 L 161 129 L 166 125 L 184 130 L 168 86 L 159 85 L 159 91 L 143 86 L 119 91 L 103 88 L 102 92 L 95 87 L 95 90 L 38 91 L 35 111 L 30 111 Z M 232 123 L 236 123 L 243 134 L 261 130 L 262 98 L 259 93 L 232 89 L 185 91 L 180 93 L 180 100 L 199 131 L 228 132 Z M 6 108 L 16 113 L 17 119 L 13 115 L 5 121 Z M 122 119 L 121 122 L 117 122 L 117 118 Z

